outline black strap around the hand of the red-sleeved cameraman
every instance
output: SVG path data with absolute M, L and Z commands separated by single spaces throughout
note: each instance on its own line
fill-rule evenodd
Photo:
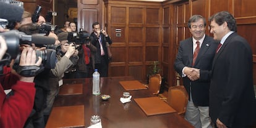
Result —
M 32 77 L 44 70 L 43 66 L 19 66 L 16 70 L 21 76 Z

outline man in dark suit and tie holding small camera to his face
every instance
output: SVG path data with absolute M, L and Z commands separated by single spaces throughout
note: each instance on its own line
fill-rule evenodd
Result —
M 108 77 L 108 44 L 112 44 L 112 40 L 105 30 L 100 29 L 100 23 L 95 22 L 92 25 L 93 33 L 91 34 L 91 42 L 97 48 L 95 53 L 95 68 L 98 69 L 101 77 Z

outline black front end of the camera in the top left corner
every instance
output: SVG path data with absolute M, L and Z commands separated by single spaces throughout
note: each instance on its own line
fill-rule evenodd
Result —
M 24 9 L 22 7 L 0 2 L 0 18 L 5 18 L 8 21 L 20 22 L 23 11 Z

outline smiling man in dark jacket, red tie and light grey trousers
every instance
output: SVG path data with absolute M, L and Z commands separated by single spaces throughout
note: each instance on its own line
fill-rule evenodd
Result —
M 192 37 L 180 42 L 174 62 L 190 95 L 185 119 L 197 128 L 212 127 L 208 107 L 210 81 L 196 80 L 199 74 L 194 68 L 210 71 L 218 44 L 205 34 L 206 21 L 201 15 L 190 17 L 188 26 Z

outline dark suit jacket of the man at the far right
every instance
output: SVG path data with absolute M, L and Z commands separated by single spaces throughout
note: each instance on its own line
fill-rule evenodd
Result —
M 229 35 L 215 55 L 210 84 L 210 117 L 228 127 L 255 121 L 252 50 L 237 33 Z

